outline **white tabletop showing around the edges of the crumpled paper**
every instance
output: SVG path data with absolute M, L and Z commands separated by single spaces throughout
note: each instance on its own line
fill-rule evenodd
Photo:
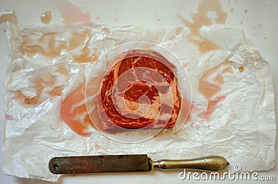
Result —
M 16 2 L 16 3 L 15 3 Z M 190 12 L 195 12 L 197 3 L 192 1 L 165 1 L 164 3 L 158 3 L 158 1 L 118 1 L 117 4 L 111 3 L 111 1 L 105 1 L 101 3 L 93 3 L 80 1 L 77 4 L 85 5 L 85 10 L 92 12 L 92 21 L 99 24 L 143 24 L 146 26 L 183 26 L 180 20 L 177 19 L 177 14 L 181 14 L 184 17 L 189 18 Z M 223 10 L 228 12 L 227 26 L 233 26 L 237 28 L 243 28 L 247 40 L 250 40 L 250 45 L 255 47 L 261 52 L 261 55 L 265 60 L 270 62 L 273 74 L 273 83 L 275 85 L 275 94 L 277 99 L 277 81 L 278 73 L 275 69 L 278 68 L 278 53 L 276 47 L 276 41 L 278 40 L 277 34 L 275 34 L 278 28 L 275 24 L 277 17 L 276 9 L 278 8 L 278 1 L 238 1 L 235 3 L 231 1 L 231 5 L 227 1 L 222 2 Z M 40 14 L 45 10 L 51 10 L 51 7 L 40 6 L 35 3 L 28 2 L 2 2 L 1 9 L 10 10 L 13 9 L 17 12 L 19 18 L 19 24 L 34 24 L 40 23 Z M 30 8 L 33 7 L 33 12 L 29 13 Z M 234 8 L 234 12 L 229 12 L 231 8 Z M 248 12 L 245 14 L 245 9 Z M 56 10 L 52 11 L 56 22 L 60 22 L 60 17 Z M 276 15 L 276 16 L 275 16 Z M 98 17 L 99 19 L 94 19 Z M 160 21 L 158 21 L 160 19 Z M 243 21 L 243 24 L 240 24 Z M 261 24 L 261 27 L 259 27 Z M 253 27 L 256 26 L 256 29 Z M 1 25 L 3 28 L 3 25 Z M 265 39 L 265 37 L 267 39 Z M 6 69 L 6 38 L 3 31 L 0 35 L 0 48 L 1 48 L 1 84 L 3 84 L 3 76 Z M 3 66 L 3 67 L 2 67 Z M 3 88 L 1 87 L 1 101 L 3 101 Z M 277 107 L 277 100 L 276 100 Z M 277 109 L 277 108 L 276 108 Z M 3 104 L 1 104 L 0 118 L 3 119 Z M 277 117 L 277 111 L 276 111 Z M 2 121 L 2 120 L 1 120 Z M 1 126 L 3 126 L 1 124 Z M 3 128 L 1 128 L 3 129 Z M 1 140 L 3 139 L 1 131 Z M 261 174 L 276 175 L 277 167 L 270 172 Z M 115 179 L 121 181 L 121 183 L 181 183 L 186 181 L 179 180 L 180 171 L 170 172 L 150 172 L 144 174 L 87 174 L 83 176 L 64 176 L 61 178 L 60 183 L 111 183 Z M 277 178 L 278 179 L 278 178 Z M 226 180 L 229 182 L 229 179 Z M 19 179 L 12 176 L 1 175 L 0 183 L 35 183 L 35 180 Z M 40 181 L 38 181 L 39 183 Z M 46 183 L 46 182 L 42 182 Z

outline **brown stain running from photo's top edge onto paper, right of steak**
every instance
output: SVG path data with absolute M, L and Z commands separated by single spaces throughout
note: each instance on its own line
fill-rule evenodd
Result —
M 197 44 L 199 51 L 202 53 L 221 49 L 221 47 L 219 47 L 217 44 L 206 40 L 199 33 L 199 30 L 202 28 L 202 26 L 211 26 L 214 23 L 224 24 L 226 22 L 227 12 L 222 11 L 220 0 L 199 1 L 199 7 L 197 10 L 198 11 L 191 16 L 193 22 L 190 22 L 188 19 L 178 15 L 178 18 L 181 19 L 183 24 L 190 28 L 188 41 Z M 217 17 L 215 19 L 209 18 L 208 12 L 215 12 Z

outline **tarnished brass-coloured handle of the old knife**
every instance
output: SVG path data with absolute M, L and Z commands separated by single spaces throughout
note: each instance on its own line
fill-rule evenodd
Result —
M 229 165 L 222 156 L 205 156 L 186 160 L 156 160 L 152 161 L 152 168 L 156 169 L 202 169 L 218 171 Z

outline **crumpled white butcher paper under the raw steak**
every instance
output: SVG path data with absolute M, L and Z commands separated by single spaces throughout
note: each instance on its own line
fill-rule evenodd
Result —
M 42 38 L 43 35 L 53 37 Z M 57 42 L 69 44 L 74 34 L 88 33 L 88 45 L 72 50 L 61 49 Z M 3 141 L 3 172 L 24 178 L 58 181 L 51 174 L 48 162 L 54 156 L 147 153 L 152 159 L 181 159 L 221 155 L 242 171 L 271 169 L 275 165 L 275 106 L 271 71 L 268 62 L 256 49 L 247 46 L 243 31 L 237 28 L 204 26 L 200 35 L 222 49 L 199 50 L 188 41 L 188 28 L 152 28 L 144 26 L 108 26 L 90 24 L 27 25 L 8 24 L 7 38 L 10 63 L 5 83 L 5 113 Z M 21 51 L 24 37 L 38 43 L 42 50 Z M 80 38 L 81 39 L 81 38 Z M 77 135 L 60 119 L 60 103 L 90 72 L 90 62 L 76 62 L 73 56 L 88 47 L 92 60 L 113 47 L 126 42 L 152 42 L 172 51 L 186 67 L 192 85 L 193 109 L 189 121 L 178 133 L 163 130 L 150 140 L 124 144 L 108 139 L 92 128 L 90 137 Z M 55 53 L 44 48 L 54 43 Z M 202 43 L 201 43 L 202 44 Z M 45 49 L 45 50 L 44 50 Z M 74 55 L 75 54 L 75 55 Z M 222 63 L 229 60 L 229 69 Z M 63 66 L 68 75 L 57 72 Z M 217 68 L 215 71 L 213 69 Z M 208 71 L 211 83 L 220 74 L 221 90 L 213 94 L 212 104 L 200 92 L 202 77 Z M 43 92 L 40 103 L 27 106 L 17 97 L 38 94 L 32 81 L 39 76 L 56 76 L 63 85 L 60 95 L 49 97 Z M 47 80 L 47 79 L 45 79 Z M 217 81 L 217 80 L 216 80 Z M 224 97 L 219 100 L 218 97 Z M 217 100 L 218 99 L 218 100 Z M 209 111 L 209 112 L 208 112 Z

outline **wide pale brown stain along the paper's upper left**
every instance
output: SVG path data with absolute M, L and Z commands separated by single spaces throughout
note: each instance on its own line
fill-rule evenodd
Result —
M 57 58 L 65 50 L 71 53 L 75 62 L 95 62 L 99 58 L 99 53 L 90 51 L 88 47 L 92 37 L 90 32 L 74 33 L 67 41 L 61 41 L 58 37 L 58 33 L 26 35 L 20 51 L 22 55 L 35 56 L 40 53 L 49 58 Z M 73 52 L 76 49 L 79 50 L 78 53 Z

